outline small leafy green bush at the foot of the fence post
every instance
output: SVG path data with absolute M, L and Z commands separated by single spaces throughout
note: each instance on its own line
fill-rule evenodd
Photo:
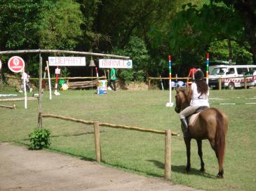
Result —
M 29 149 L 41 150 L 50 146 L 50 130 L 35 128 L 29 134 Z

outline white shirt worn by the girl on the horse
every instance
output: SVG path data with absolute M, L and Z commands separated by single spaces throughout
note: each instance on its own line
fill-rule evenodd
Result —
M 207 94 L 200 94 L 197 92 L 197 85 L 196 83 L 191 84 L 191 106 L 208 106 L 210 107 L 209 104 L 209 89 L 207 91 Z

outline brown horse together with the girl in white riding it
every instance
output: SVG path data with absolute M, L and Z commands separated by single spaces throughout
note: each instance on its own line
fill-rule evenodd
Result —
M 190 142 L 196 139 L 198 145 L 198 155 L 201 160 L 201 171 L 205 171 L 202 152 L 202 140 L 208 139 L 210 146 L 215 150 L 215 155 L 219 164 L 218 178 L 223 178 L 224 169 L 224 150 L 226 144 L 226 134 L 228 129 L 228 118 L 222 111 L 217 108 L 209 108 L 208 95 L 209 88 L 203 80 L 203 72 L 201 70 L 195 73 L 195 82 L 191 84 L 189 94 L 183 89 L 176 89 L 176 106 L 175 111 L 180 113 L 182 122 L 182 132 L 184 133 L 184 141 L 187 148 L 187 167 L 186 171 L 190 171 Z M 188 123 L 186 117 L 193 114 L 197 108 L 207 106 L 207 108 L 196 114 L 194 122 Z

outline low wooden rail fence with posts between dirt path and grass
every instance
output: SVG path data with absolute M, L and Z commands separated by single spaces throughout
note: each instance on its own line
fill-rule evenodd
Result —
M 164 177 L 166 179 L 170 179 L 170 172 L 171 172 L 171 136 L 179 136 L 179 134 L 175 132 L 171 132 L 170 130 L 156 130 L 156 129 L 144 129 L 141 127 L 133 127 L 133 126 L 126 126 L 126 125 L 114 125 L 110 123 L 104 122 L 97 122 L 97 121 L 88 121 L 88 120 L 81 120 L 76 118 L 68 118 L 61 115 L 53 115 L 48 113 L 39 113 L 40 118 L 58 118 L 62 120 L 69 120 L 73 122 L 81 122 L 87 125 L 94 126 L 94 136 L 95 136 L 95 155 L 97 162 L 101 162 L 102 155 L 101 155 L 101 146 L 100 146 L 100 126 L 105 127 L 112 127 L 112 128 L 119 128 L 119 129 L 128 129 L 128 130 L 135 130 L 139 132 L 151 132 L 154 134 L 164 134 L 165 135 L 165 167 L 164 167 Z M 42 121 L 42 119 L 41 119 Z

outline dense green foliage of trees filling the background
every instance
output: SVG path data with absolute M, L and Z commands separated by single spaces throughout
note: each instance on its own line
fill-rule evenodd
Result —
M 204 69 L 206 52 L 210 61 L 255 63 L 255 9 L 253 0 L 2 0 L 0 50 L 126 55 L 134 68 L 119 74 L 127 81 L 168 76 L 172 55 L 173 73 L 187 76 L 192 66 Z M 38 57 L 22 57 L 29 74 L 37 76 Z M 3 63 L 7 59 L 1 57 Z M 3 68 L 8 71 L 7 64 Z

